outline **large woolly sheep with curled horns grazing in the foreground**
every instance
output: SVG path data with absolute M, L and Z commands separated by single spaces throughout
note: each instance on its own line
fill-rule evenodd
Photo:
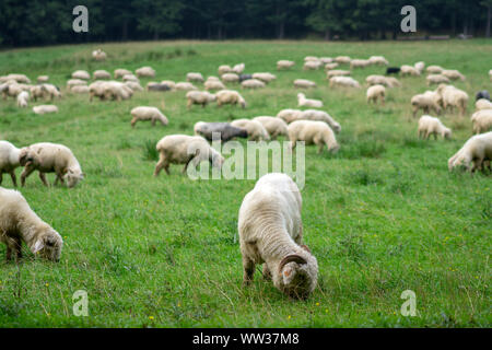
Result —
M 248 285 L 255 265 L 282 293 L 307 299 L 317 284 L 318 262 L 303 244 L 302 197 L 289 175 L 261 176 L 241 205 L 238 232 L 243 284 Z

